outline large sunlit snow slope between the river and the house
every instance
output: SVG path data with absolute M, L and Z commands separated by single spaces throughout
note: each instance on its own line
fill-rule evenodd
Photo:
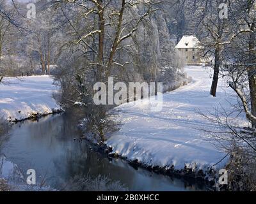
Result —
M 120 131 L 114 133 L 107 145 L 113 153 L 129 160 L 138 159 L 148 166 L 161 166 L 175 170 L 188 168 L 206 170 L 218 163 L 225 152 L 216 149 L 211 138 L 199 129 L 217 128 L 198 112 L 209 115 L 216 106 L 231 108 L 236 95 L 220 79 L 217 97 L 210 94 L 211 68 L 190 66 L 185 69 L 193 82 L 163 94 L 163 110 L 150 112 L 145 100 L 118 106 Z M 147 102 L 147 101 L 146 101 Z M 220 163 L 214 168 L 221 168 Z

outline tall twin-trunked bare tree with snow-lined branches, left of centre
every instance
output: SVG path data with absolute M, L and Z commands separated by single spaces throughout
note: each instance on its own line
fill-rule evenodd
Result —
M 98 79 L 102 78 L 102 76 L 108 77 L 113 70 L 113 66 L 123 67 L 128 63 L 116 61 L 116 52 L 127 46 L 123 42 L 131 38 L 143 20 L 158 10 L 157 1 L 136 1 L 131 3 L 123 0 L 117 3 L 111 0 L 66 0 L 63 3 L 79 6 L 79 10 L 83 10 L 82 17 L 86 20 L 92 20 L 93 25 L 95 25 L 84 34 L 69 20 L 77 36 L 79 36 L 76 43 L 83 44 L 95 56 L 95 58 L 93 57 L 95 61 L 92 60 L 90 66 L 97 68 L 95 72 Z M 128 15 L 136 13 L 137 10 L 140 10 L 140 12 L 132 18 L 128 18 Z M 67 16 L 65 11 L 63 11 L 63 14 Z

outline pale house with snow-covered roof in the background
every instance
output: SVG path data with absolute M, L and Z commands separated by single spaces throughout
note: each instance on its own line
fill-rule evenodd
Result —
M 196 36 L 183 36 L 175 46 L 175 50 L 186 58 L 187 64 L 199 64 L 202 62 L 200 57 L 201 49 L 201 43 Z

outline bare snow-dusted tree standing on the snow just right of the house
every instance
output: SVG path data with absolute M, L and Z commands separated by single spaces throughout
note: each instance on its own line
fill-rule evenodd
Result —
M 220 16 L 221 4 L 232 6 L 229 0 L 197 1 L 196 3 L 196 18 L 198 21 L 196 30 L 198 30 L 198 27 L 201 27 L 205 33 L 201 36 L 202 45 L 204 45 L 205 50 L 204 57 L 208 55 L 214 59 L 214 73 L 211 85 L 211 95 L 214 97 L 216 96 L 223 60 L 222 52 L 225 47 L 223 42 L 231 35 L 230 27 L 232 27 L 232 23 L 227 17 Z

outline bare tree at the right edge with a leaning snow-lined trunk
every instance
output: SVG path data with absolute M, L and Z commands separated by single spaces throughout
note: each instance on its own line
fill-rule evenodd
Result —
M 230 77 L 230 87 L 234 89 L 252 128 L 256 127 L 256 15 L 255 1 L 236 1 L 237 13 L 233 18 L 236 27 L 228 41 L 225 52 L 225 71 Z M 248 92 L 247 92 L 248 91 Z

